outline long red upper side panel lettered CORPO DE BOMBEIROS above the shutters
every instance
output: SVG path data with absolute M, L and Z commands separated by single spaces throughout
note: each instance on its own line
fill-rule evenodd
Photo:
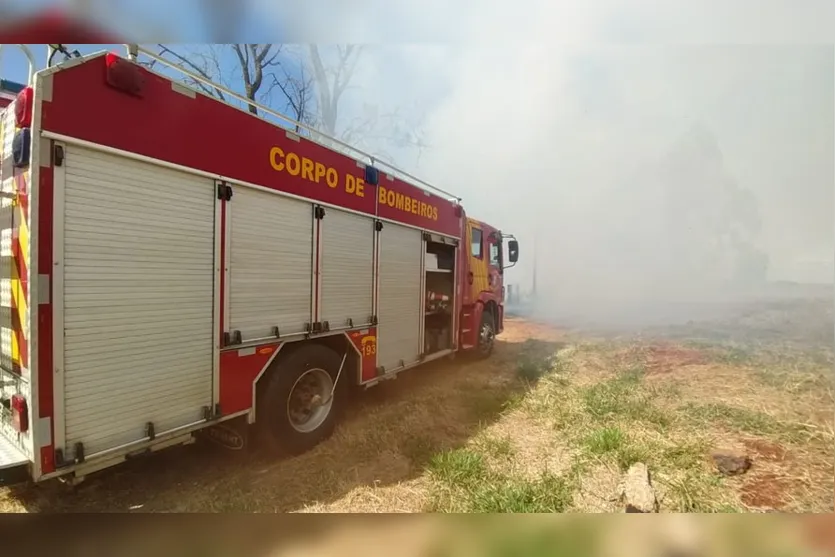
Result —
M 144 68 L 141 97 L 109 87 L 105 71 L 100 57 L 55 74 L 43 129 L 441 234 L 460 233 L 452 201 L 383 172 L 379 188 L 367 185 L 365 165 L 354 159 L 290 139 L 284 129 L 217 99 L 184 94 Z

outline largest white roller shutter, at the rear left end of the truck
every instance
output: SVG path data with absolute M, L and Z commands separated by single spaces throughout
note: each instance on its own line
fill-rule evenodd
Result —
M 65 153 L 65 447 L 89 456 L 141 440 L 148 422 L 157 435 L 199 422 L 212 404 L 216 190 L 116 155 Z

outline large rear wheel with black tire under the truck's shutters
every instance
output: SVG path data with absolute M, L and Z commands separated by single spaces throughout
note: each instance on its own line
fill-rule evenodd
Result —
M 333 434 L 348 398 L 350 377 L 343 369 L 327 402 L 341 363 L 330 348 L 305 344 L 270 371 L 256 410 L 259 438 L 269 452 L 302 454 Z M 320 404 L 310 404 L 317 396 Z

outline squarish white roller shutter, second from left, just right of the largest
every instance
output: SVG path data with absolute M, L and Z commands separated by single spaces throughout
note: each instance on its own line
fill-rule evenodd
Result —
M 313 206 L 254 188 L 233 186 L 230 229 L 229 330 L 244 342 L 300 333 L 310 319 Z

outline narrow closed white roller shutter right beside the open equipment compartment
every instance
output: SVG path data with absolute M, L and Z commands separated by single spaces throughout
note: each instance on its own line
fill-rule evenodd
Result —
M 377 365 L 386 372 L 420 355 L 421 256 L 419 230 L 384 223 L 380 231 Z

